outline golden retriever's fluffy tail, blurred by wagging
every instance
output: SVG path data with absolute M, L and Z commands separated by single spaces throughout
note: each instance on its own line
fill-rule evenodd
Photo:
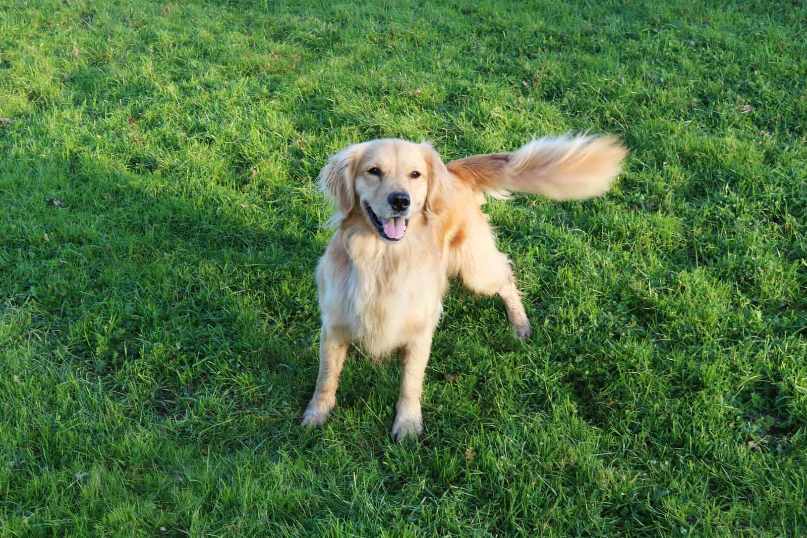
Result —
M 513 153 L 473 155 L 448 163 L 449 172 L 494 197 L 537 192 L 550 200 L 582 200 L 608 191 L 627 149 L 613 136 L 546 137 Z

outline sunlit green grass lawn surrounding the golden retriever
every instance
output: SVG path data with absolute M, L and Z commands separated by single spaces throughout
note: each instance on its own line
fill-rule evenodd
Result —
M 807 7 L 707 3 L 0 0 L 0 536 L 807 536 Z M 454 285 L 423 440 L 360 350 L 300 428 L 328 155 L 576 130 L 532 340 Z

